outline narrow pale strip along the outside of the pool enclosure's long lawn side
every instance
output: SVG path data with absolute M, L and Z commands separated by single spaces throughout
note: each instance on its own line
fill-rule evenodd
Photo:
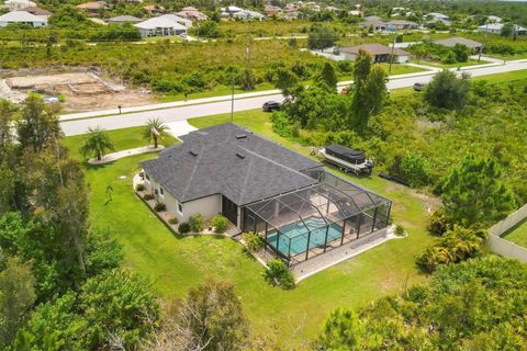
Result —
M 356 257 L 365 251 L 368 251 L 388 240 L 405 238 L 396 236 L 394 231 L 395 226 L 380 229 L 377 233 L 372 233 L 358 240 L 345 244 L 344 246 L 333 249 L 324 254 L 295 264 L 291 268 L 291 271 L 293 272 L 296 282 L 300 282 L 313 274 L 328 269 L 329 267 L 333 267 L 335 264 L 349 260 L 350 258 Z

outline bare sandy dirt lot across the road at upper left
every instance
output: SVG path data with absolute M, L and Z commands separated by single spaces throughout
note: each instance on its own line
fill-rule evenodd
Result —
M 0 84 L 1 84 L 0 78 Z M 10 91 L 8 91 L 10 90 Z M 65 112 L 93 111 L 136 106 L 156 102 L 148 91 L 133 89 L 121 83 L 103 79 L 92 71 L 31 75 L 11 72 L 3 79 L 0 98 L 10 99 L 29 92 L 38 92 L 49 97 L 63 94 Z M 19 99 L 20 100 L 20 99 Z

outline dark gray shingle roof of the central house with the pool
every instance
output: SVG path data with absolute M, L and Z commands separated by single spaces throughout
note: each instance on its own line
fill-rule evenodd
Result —
M 301 171 L 321 163 L 235 124 L 192 132 L 183 144 L 142 162 L 180 202 L 223 194 L 238 205 L 317 182 Z M 194 156 L 195 155 L 195 156 Z

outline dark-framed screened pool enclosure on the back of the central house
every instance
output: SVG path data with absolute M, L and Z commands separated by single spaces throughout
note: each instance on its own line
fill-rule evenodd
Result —
M 247 205 L 244 228 L 290 265 L 384 229 L 391 201 L 318 171 L 319 182 Z

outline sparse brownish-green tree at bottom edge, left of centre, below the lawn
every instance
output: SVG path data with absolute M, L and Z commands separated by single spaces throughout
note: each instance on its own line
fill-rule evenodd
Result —
M 234 285 L 206 281 L 189 291 L 177 313 L 184 350 L 242 350 L 248 325 Z

